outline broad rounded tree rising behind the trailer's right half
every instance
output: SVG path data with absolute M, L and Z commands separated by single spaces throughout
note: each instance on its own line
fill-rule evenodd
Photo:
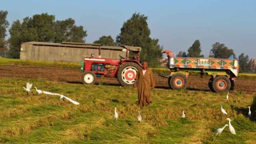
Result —
M 236 58 L 233 49 L 228 49 L 225 44 L 220 44 L 219 42 L 213 44 L 210 50 L 210 56 L 214 58 L 229 58 L 231 55 L 234 55 L 234 58 Z

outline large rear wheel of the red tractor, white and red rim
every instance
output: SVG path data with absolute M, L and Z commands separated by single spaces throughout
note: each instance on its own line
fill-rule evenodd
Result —
M 123 64 L 117 72 L 118 82 L 122 86 L 133 86 L 139 68 L 140 66 L 134 62 Z

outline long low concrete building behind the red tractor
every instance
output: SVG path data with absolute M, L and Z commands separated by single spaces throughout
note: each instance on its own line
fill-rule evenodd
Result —
M 20 48 L 21 60 L 81 62 L 92 54 L 96 58 L 119 59 L 126 56 L 126 48 L 75 42 L 24 42 Z

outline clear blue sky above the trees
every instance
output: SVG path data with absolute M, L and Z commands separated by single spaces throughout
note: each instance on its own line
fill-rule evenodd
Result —
M 256 0 L 1 0 L 0 10 L 8 10 L 10 24 L 46 12 L 56 20 L 73 18 L 87 30 L 86 42 L 103 35 L 115 39 L 122 24 L 140 12 L 164 49 L 187 52 L 199 39 L 205 56 L 220 42 L 237 56 L 256 58 Z

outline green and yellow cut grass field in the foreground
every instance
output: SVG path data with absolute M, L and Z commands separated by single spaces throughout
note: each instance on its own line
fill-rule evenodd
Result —
M 58 96 L 27 93 L 22 86 L 64 94 L 80 102 L 74 105 Z M 34 79 L 0 79 L 0 143 L 254 143 L 256 140 L 256 98 L 253 95 L 189 90 L 154 89 L 153 103 L 141 108 L 142 122 L 136 121 L 139 107 L 133 88 L 83 85 Z M 222 115 L 220 105 L 228 116 Z M 252 106 L 252 120 L 246 113 Z M 114 107 L 119 114 L 114 120 Z M 186 110 L 186 118 L 181 118 Z M 226 128 L 232 120 L 237 135 Z

